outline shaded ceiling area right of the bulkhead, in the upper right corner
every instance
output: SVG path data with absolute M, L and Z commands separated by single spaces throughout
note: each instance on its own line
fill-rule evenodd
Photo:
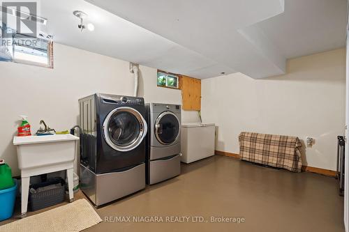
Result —
M 286 0 L 285 13 L 258 26 L 288 59 L 344 47 L 347 3 Z

